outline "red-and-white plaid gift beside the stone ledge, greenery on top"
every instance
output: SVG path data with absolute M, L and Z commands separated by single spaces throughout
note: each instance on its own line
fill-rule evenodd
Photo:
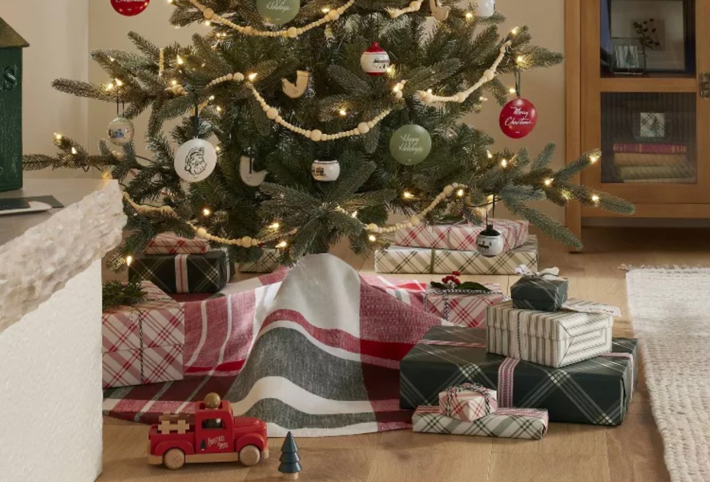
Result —
M 102 315 L 104 388 L 182 380 L 185 309 L 153 283 L 145 299 Z

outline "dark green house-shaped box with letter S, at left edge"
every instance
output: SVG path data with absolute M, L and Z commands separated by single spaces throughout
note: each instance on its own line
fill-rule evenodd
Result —
M 22 49 L 29 44 L 0 18 L 0 192 L 22 187 Z

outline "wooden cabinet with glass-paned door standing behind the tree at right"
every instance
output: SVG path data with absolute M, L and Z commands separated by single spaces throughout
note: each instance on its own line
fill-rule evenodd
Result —
M 710 0 L 566 0 L 567 157 L 635 217 L 710 217 Z M 613 217 L 572 207 L 567 224 Z

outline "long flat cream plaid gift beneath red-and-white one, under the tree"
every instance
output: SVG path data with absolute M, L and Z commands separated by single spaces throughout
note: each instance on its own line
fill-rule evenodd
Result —
M 375 252 L 377 273 L 515 275 L 525 265 L 537 270 L 537 237 L 529 236 L 523 246 L 486 258 L 478 251 L 451 251 L 430 248 L 390 246 Z

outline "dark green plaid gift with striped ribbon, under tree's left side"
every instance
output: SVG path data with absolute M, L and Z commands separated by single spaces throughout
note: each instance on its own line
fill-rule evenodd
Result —
M 166 293 L 216 293 L 229 283 L 234 265 L 226 251 L 136 256 L 129 280 L 151 281 Z

